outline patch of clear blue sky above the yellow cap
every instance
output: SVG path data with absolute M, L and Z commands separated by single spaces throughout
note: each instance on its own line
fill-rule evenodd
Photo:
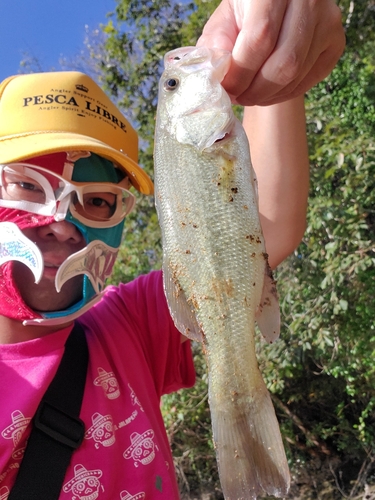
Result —
M 60 69 L 60 57 L 73 58 L 89 31 L 106 23 L 115 0 L 2 0 L 0 3 L 0 81 L 19 73 L 23 54 L 44 71 Z

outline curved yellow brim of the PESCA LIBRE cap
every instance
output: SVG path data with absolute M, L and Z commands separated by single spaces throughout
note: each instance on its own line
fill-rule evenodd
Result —
M 43 154 L 61 151 L 91 151 L 115 162 L 129 176 L 133 186 L 143 194 L 153 194 L 150 177 L 126 154 L 104 142 L 71 132 L 39 132 L 0 138 L 0 161 L 12 163 Z

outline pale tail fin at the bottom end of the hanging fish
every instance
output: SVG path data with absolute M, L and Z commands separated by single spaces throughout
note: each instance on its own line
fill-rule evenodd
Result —
M 261 375 L 259 373 L 261 378 Z M 261 379 L 251 401 L 217 404 L 210 394 L 220 482 L 226 500 L 283 497 L 290 475 L 270 394 Z

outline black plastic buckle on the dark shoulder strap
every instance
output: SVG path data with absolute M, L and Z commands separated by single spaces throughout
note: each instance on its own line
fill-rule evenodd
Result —
M 83 441 L 85 424 L 59 408 L 42 400 L 34 417 L 34 425 L 55 441 L 76 450 Z

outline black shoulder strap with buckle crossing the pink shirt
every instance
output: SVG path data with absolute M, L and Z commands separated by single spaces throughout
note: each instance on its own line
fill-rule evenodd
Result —
M 25 455 L 8 500 L 55 500 L 85 429 L 79 419 L 86 381 L 85 333 L 75 323 L 57 373 L 34 417 Z

